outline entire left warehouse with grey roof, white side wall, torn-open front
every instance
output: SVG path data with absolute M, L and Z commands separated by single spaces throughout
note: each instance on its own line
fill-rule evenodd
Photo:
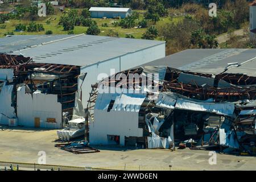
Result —
M 98 75 L 165 56 L 165 42 L 92 35 L 0 39 L 0 124 L 62 128 L 84 117 Z M 100 78 L 100 80 L 102 77 Z M 78 123 L 75 121 L 73 123 Z

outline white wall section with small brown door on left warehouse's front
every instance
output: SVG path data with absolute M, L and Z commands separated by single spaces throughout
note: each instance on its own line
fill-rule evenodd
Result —
M 40 91 L 31 94 L 28 90 L 26 86 L 20 86 L 17 90 L 19 125 L 61 128 L 62 111 L 60 102 L 57 102 L 57 95 L 43 94 Z

